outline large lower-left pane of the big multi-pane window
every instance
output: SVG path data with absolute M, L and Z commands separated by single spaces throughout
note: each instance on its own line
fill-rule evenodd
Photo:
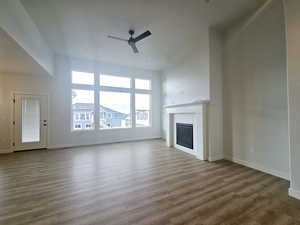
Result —
M 94 111 L 94 91 L 72 89 L 73 130 L 94 129 Z

